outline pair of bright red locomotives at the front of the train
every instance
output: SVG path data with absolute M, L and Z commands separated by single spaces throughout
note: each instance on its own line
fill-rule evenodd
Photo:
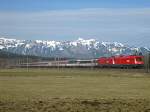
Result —
M 142 67 L 144 66 L 144 56 L 112 56 L 98 59 L 100 67 Z

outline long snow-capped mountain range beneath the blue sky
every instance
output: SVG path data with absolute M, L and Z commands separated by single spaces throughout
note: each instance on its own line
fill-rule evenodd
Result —
M 0 49 L 17 54 L 44 57 L 97 58 L 111 55 L 131 55 L 146 52 L 147 48 L 131 47 L 117 42 L 95 39 L 75 41 L 17 40 L 0 38 Z

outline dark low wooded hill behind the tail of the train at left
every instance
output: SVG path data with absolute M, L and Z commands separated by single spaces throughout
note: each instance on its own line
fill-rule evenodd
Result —
M 59 58 L 59 60 L 64 60 L 65 58 Z M 58 60 L 57 58 L 50 57 L 40 57 L 32 55 L 20 55 L 11 53 L 8 51 L 0 50 L 0 68 L 10 68 L 12 66 L 20 65 L 22 63 L 32 63 L 41 61 L 52 61 Z

